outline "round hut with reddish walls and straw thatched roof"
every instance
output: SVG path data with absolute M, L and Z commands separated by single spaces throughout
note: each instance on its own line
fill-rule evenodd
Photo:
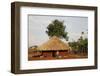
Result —
M 68 43 L 63 42 L 56 36 L 51 37 L 47 42 L 37 47 L 44 57 L 62 57 L 70 51 Z

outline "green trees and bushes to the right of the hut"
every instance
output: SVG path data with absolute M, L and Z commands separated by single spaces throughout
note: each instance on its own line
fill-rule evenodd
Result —
M 80 38 L 76 42 L 69 42 L 69 45 L 72 47 L 73 51 L 77 51 L 79 53 L 88 53 L 88 39 L 83 38 L 83 34 L 84 32 L 81 33 Z

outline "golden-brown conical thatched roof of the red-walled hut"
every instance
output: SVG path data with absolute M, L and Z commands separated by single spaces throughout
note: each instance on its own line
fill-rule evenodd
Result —
M 70 47 L 68 43 L 63 42 L 58 37 L 53 36 L 47 42 L 43 43 L 42 45 L 38 46 L 37 50 L 69 50 Z

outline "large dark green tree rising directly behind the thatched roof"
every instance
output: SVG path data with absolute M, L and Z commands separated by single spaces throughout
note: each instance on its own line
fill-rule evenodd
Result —
M 48 25 L 46 33 L 49 37 L 57 36 L 68 41 L 68 32 L 65 32 L 65 28 L 64 22 L 56 19 Z

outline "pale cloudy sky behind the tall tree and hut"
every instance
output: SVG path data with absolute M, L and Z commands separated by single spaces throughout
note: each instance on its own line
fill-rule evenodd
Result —
M 47 16 L 47 15 L 28 15 L 28 44 L 29 47 L 41 45 L 49 40 L 46 33 L 47 26 L 55 19 L 64 21 L 65 31 L 68 32 L 69 42 L 77 41 L 81 32 L 85 32 L 87 37 L 88 17 L 78 16 Z M 64 39 L 62 39 L 65 41 Z

